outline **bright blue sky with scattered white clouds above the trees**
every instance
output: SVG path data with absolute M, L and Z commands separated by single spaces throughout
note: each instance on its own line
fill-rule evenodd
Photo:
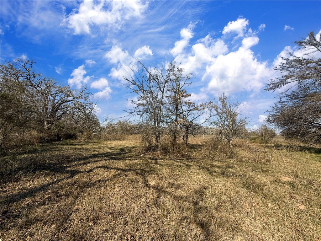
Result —
M 276 93 L 264 88 L 294 41 L 321 31 L 321 1 L 0 1 L 1 63 L 34 59 L 37 71 L 86 86 L 100 118 L 125 116 L 123 79 L 135 58 L 175 59 L 193 73 L 195 102 L 225 92 L 249 127 L 263 123 Z M 320 58 L 320 57 L 319 57 Z

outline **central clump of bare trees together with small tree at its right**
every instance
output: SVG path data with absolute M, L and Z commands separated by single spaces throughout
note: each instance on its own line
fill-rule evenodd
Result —
M 148 69 L 141 62 L 140 68 L 133 69 L 128 78 L 128 88 L 136 94 L 130 100 L 134 108 L 129 114 L 139 117 L 138 123 L 148 127 L 147 139 L 158 149 L 162 138 L 170 137 L 173 144 L 179 139 L 188 144 L 190 135 L 204 133 L 204 125 L 209 124 L 216 134 L 227 140 L 229 146 L 233 138 L 244 133 L 246 119 L 238 112 L 240 103 L 231 102 L 223 94 L 217 103 L 208 101 L 195 103 L 190 100 L 186 87 L 191 74 L 171 62 L 165 68 Z

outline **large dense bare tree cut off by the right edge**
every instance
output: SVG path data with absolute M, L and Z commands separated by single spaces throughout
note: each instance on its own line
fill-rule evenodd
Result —
M 292 83 L 280 94 L 267 121 L 283 131 L 285 137 L 317 144 L 321 141 L 321 34 L 313 32 L 296 41 L 302 56 L 290 53 L 275 68 L 281 76 L 270 81 L 265 90 L 275 91 Z M 293 86 L 294 85 L 294 86 Z

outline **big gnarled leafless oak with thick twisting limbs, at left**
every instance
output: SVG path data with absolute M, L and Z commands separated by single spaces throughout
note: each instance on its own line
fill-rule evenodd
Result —
M 24 81 L 30 88 L 44 130 L 49 130 L 56 121 L 66 114 L 73 114 L 75 110 L 92 110 L 90 94 L 85 88 L 74 91 L 69 86 L 60 86 L 54 79 L 34 72 L 32 68 L 35 63 L 33 60 L 18 59 L 10 68 L 16 73 L 16 81 Z

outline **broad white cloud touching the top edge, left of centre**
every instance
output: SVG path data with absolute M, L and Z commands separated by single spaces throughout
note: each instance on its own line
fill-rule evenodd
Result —
M 93 25 L 119 29 L 124 22 L 141 17 L 147 6 L 148 2 L 143 1 L 84 1 L 65 22 L 74 29 L 74 34 L 90 34 Z

